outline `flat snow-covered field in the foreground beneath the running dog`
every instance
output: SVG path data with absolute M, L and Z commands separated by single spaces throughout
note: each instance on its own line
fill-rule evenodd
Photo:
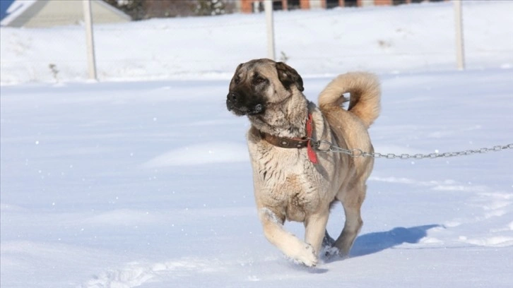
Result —
M 377 152 L 513 143 L 511 69 L 380 78 Z M 377 160 L 352 258 L 306 269 L 261 232 L 227 87 L 2 88 L 1 287 L 511 287 L 513 150 Z

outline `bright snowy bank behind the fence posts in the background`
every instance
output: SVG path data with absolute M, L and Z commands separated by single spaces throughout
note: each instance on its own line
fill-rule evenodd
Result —
M 513 1 L 464 1 L 468 68 L 513 65 Z M 456 66 L 450 2 L 275 13 L 276 53 L 304 75 L 341 70 L 440 71 Z M 0 83 L 87 78 L 83 27 L 0 28 Z M 100 80 L 228 79 L 266 56 L 264 14 L 95 25 Z

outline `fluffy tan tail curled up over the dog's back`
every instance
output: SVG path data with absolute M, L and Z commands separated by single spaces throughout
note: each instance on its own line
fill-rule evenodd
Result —
M 340 109 L 348 99 L 344 93 L 350 93 L 348 111 L 362 119 L 367 127 L 379 115 L 381 90 L 379 80 L 371 73 L 350 72 L 341 74 L 332 80 L 319 95 L 321 111 Z

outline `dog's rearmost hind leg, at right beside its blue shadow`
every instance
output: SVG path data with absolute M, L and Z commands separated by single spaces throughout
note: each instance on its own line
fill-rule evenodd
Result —
M 338 198 L 341 200 L 346 214 L 346 223 L 334 246 L 338 248 L 338 254 L 343 258 L 349 256 L 350 248 L 353 246 L 356 236 L 362 228 L 363 221 L 360 215 L 360 208 L 365 199 L 366 189 L 367 186 L 365 184 L 358 185 L 350 191 L 343 193 L 341 198 Z

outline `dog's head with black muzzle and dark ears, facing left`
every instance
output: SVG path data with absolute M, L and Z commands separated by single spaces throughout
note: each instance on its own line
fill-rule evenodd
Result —
M 252 60 L 237 66 L 226 108 L 238 116 L 265 114 L 269 105 L 284 102 L 295 90 L 304 88 L 293 68 L 270 59 Z

